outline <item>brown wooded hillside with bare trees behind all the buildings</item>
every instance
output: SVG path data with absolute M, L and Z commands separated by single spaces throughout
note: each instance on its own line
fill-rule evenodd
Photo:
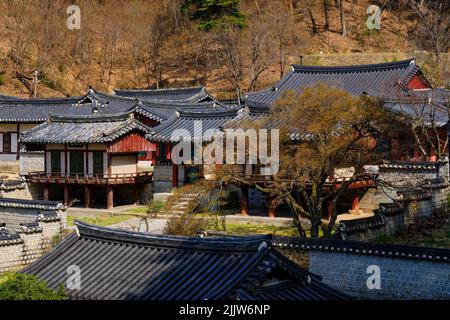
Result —
M 81 9 L 79 30 L 66 27 L 71 4 Z M 369 4 L 382 9 L 379 30 L 366 25 Z M 0 94 L 33 95 L 37 70 L 37 96 L 207 85 L 233 98 L 273 84 L 301 56 L 306 64 L 417 56 L 448 86 L 449 11 L 446 0 L 3 0 Z

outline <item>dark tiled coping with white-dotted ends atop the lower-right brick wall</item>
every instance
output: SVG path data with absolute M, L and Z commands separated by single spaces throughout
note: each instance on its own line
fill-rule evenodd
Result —
M 450 263 L 450 249 L 441 248 L 378 244 L 335 239 L 302 239 L 293 237 L 275 237 L 272 244 L 275 248 L 315 250 Z

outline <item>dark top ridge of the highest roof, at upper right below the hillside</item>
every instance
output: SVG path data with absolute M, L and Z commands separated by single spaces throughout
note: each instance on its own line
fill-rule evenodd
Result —
M 360 64 L 360 65 L 348 65 L 348 66 L 305 66 L 292 64 L 293 72 L 370 72 L 381 71 L 389 69 L 406 69 L 411 64 L 415 64 L 415 58 L 409 58 L 406 60 L 395 62 L 383 62 L 374 64 Z

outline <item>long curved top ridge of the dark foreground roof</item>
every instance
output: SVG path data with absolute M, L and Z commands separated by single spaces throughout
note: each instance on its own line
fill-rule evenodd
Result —
M 156 235 L 145 232 L 99 227 L 75 221 L 80 237 L 103 239 L 105 241 L 134 243 L 161 248 L 204 249 L 212 251 L 249 252 L 259 251 L 261 243 L 270 241 L 271 235 L 235 238 L 194 238 L 172 235 Z

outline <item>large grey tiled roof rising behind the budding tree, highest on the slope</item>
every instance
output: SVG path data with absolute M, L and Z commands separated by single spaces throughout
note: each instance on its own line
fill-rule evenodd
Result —
M 292 65 L 292 71 L 273 88 L 249 93 L 245 100 L 247 105 L 264 107 L 272 105 L 286 90 L 301 91 L 319 83 L 358 96 L 366 93 L 379 98 L 396 98 L 419 72 L 414 59 L 356 66 Z

